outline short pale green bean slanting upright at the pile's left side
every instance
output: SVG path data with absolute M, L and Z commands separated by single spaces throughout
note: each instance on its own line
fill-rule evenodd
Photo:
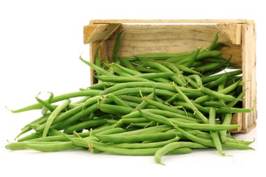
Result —
M 52 111 L 52 113 L 50 114 L 46 125 L 43 129 L 43 137 L 45 137 L 48 134 L 48 131 L 50 129 L 50 126 L 52 125 L 52 122 L 55 120 L 55 118 L 57 117 L 57 115 L 64 110 L 64 108 L 66 108 L 66 106 L 68 106 L 71 103 L 71 101 L 69 99 L 66 99 L 62 104 L 60 104 L 57 108 L 55 108 L 55 111 Z

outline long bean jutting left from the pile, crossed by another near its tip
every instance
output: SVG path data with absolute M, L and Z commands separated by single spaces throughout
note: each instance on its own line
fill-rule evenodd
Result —
M 55 103 L 57 101 L 63 101 L 65 99 L 71 99 L 71 98 L 74 98 L 74 97 L 87 97 L 87 96 L 96 96 L 97 94 L 99 94 L 99 92 L 101 92 L 101 90 L 87 90 L 87 91 L 80 91 L 80 92 L 71 92 L 71 93 L 68 93 L 68 94 L 62 94 L 62 95 L 59 95 L 57 97 L 54 97 L 52 99 L 52 103 Z M 45 101 L 48 101 L 48 100 L 45 100 Z M 24 111 L 31 111 L 31 110 L 34 110 L 34 109 L 39 109 L 41 108 L 41 104 L 32 104 L 30 106 L 26 106 L 25 108 L 20 108 L 18 110 L 15 110 L 15 111 L 12 111 L 13 113 L 21 113 L 21 112 L 24 112 Z

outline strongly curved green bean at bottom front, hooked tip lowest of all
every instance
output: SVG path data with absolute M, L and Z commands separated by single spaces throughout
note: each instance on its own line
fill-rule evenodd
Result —
M 156 151 L 154 159 L 155 162 L 158 164 L 162 164 L 161 158 L 162 156 L 169 153 L 171 150 L 174 150 L 176 148 L 208 148 L 207 146 L 203 146 L 199 143 L 192 143 L 192 142 L 173 142 L 165 145 L 164 147 L 160 148 Z

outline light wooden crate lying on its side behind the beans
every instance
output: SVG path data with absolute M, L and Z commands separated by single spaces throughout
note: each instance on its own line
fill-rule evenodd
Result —
M 112 60 L 113 45 L 121 30 L 123 39 L 119 57 L 156 52 L 180 52 L 207 46 L 219 32 L 219 41 L 230 45 L 223 48 L 223 57 L 232 54 L 231 62 L 243 69 L 243 108 L 248 114 L 237 113 L 231 124 L 239 124 L 232 132 L 249 132 L 256 124 L 255 23 L 252 20 L 90 20 L 84 27 L 84 43 L 90 43 L 90 61 L 99 48 L 101 59 Z M 93 71 L 91 71 L 93 72 Z M 92 77 L 92 84 L 96 80 Z

